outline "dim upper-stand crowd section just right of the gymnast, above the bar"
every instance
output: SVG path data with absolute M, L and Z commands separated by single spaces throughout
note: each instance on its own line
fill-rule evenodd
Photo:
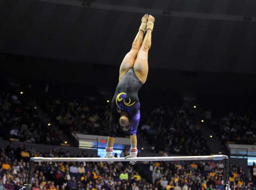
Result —
M 156 152 L 183 155 L 208 155 L 209 148 L 195 115 L 182 107 L 159 106 L 143 115 L 141 130 Z M 161 143 L 157 142 L 161 139 Z

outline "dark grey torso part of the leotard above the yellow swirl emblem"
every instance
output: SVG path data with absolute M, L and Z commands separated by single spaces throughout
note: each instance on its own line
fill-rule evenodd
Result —
M 136 76 L 133 68 L 131 68 L 125 73 L 125 75 L 123 75 L 123 77 L 119 81 L 115 90 L 115 96 L 113 97 L 113 100 L 117 97 L 118 94 L 126 93 L 132 101 L 139 102 L 138 91 L 141 86 L 141 81 Z

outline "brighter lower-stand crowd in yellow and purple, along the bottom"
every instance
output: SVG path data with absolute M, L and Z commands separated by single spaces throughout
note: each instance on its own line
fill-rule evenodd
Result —
M 94 157 L 85 151 L 49 150 L 12 145 L 0 150 L 0 189 L 19 190 L 26 182 L 29 158 Z M 256 166 L 254 166 L 256 168 Z M 253 190 L 255 177 L 247 177 L 243 168 L 229 165 L 230 186 L 235 190 Z M 214 161 L 128 162 L 38 162 L 32 168 L 32 190 L 222 190 L 224 164 Z M 253 171 L 253 169 L 252 169 Z

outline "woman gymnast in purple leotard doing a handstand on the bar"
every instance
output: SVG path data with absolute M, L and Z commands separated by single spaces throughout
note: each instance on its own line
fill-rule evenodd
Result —
M 120 65 L 119 83 L 111 102 L 111 116 L 109 119 L 109 137 L 107 139 L 106 157 L 113 158 L 113 144 L 117 134 L 117 126 L 130 133 L 131 148 L 128 157 L 137 157 L 137 128 L 139 125 L 139 88 L 146 82 L 148 73 L 147 55 L 151 47 L 151 33 L 154 17 L 145 14 L 141 18 L 141 26 L 136 35 L 131 50 L 126 54 Z M 143 40 L 143 35 L 146 35 Z M 119 121 L 119 122 L 118 122 Z M 135 164 L 136 161 L 130 161 Z M 113 161 L 109 161 L 109 164 Z

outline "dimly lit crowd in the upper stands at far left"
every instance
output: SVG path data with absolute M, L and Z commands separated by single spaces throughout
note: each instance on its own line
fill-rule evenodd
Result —
M 0 93 L 0 137 L 5 140 L 60 145 L 65 137 L 61 130 L 50 128 L 38 117 L 27 92 Z

